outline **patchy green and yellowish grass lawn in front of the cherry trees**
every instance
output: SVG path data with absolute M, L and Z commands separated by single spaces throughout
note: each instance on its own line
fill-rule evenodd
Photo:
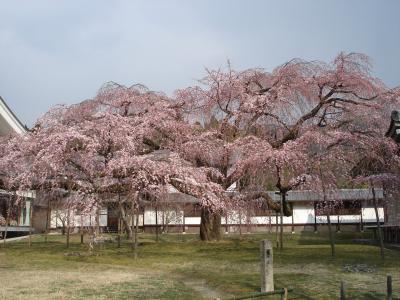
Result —
M 330 258 L 325 234 L 285 235 L 285 249 L 274 249 L 275 288 L 293 287 L 289 299 L 338 299 L 340 281 L 348 299 L 384 299 L 386 275 L 400 297 L 400 251 L 379 258 L 374 246 L 356 245 L 360 233 L 337 235 L 337 258 Z M 259 291 L 259 241 L 274 235 L 225 236 L 203 243 L 197 235 L 140 236 L 138 259 L 127 241 L 106 244 L 92 256 L 79 236 L 69 249 L 65 238 L 35 236 L 0 248 L 0 299 L 213 299 Z M 355 266 L 366 270 L 355 271 Z M 347 266 L 347 267 L 346 267 Z M 349 270 L 346 270 L 349 269 Z M 279 297 L 268 298 L 279 299 Z

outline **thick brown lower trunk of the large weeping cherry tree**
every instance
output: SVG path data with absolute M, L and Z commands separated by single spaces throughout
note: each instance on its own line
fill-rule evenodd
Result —
M 202 241 L 221 239 L 221 215 L 212 213 L 206 207 L 201 209 L 200 239 Z

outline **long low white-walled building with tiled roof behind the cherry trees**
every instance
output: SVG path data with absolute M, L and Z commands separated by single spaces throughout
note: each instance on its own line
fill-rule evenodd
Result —
M 279 195 L 268 192 L 274 201 L 279 201 Z M 337 231 L 363 230 L 365 225 L 376 223 L 375 211 L 372 205 L 372 192 L 369 189 L 341 189 L 336 191 L 340 198 L 330 212 L 331 223 Z M 139 216 L 139 226 L 147 232 L 154 232 L 158 227 L 166 232 L 198 232 L 200 226 L 200 207 L 196 198 L 181 193 L 171 193 L 172 201 L 160 201 L 157 206 L 148 204 L 142 207 Z M 378 214 L 380 222 L 384 222 L 383 190 L 376 189 L 379 202 Z M 283 217 L 285 231 L 320 231 L 326 230 L 327 217 L 320 213 L 318 207 L 323 203 L 320 194 L 313 191 L 291 191 L 287 200 L 293 207 L 293 215 Z M 100 227 L 104 231 L 115 232 L 121 227 L 118 210 L 110 201 L 107 207 L 99 211 Z M 70 225 L 76 229 L 96 226 L 93 215 L 70 214 Z M 53 210 L 51 213 L 51 228 L 65 226 L 67 211 Z M 222 227 L 225 232 L 258 232 L 273 230 L 280 224 L 280 217 L 274 211 L 249 209 L 233 211 L 223 216 Z

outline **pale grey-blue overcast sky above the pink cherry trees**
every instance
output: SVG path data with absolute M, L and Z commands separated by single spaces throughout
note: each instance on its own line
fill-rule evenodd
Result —
M 0 95 L 31 126 L 101 85 L 168 94 L 204 68 L 271 70 L 300 57 L 363 52 L 400 84 L 400 1 L 0 0 Z

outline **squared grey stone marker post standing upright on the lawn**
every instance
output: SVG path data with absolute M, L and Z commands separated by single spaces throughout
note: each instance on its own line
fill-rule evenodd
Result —
M 274 266 L 272 259 L 272 244 L 268 240 L 262 240 L 261 250 L 261 293 L 274 290 Z

